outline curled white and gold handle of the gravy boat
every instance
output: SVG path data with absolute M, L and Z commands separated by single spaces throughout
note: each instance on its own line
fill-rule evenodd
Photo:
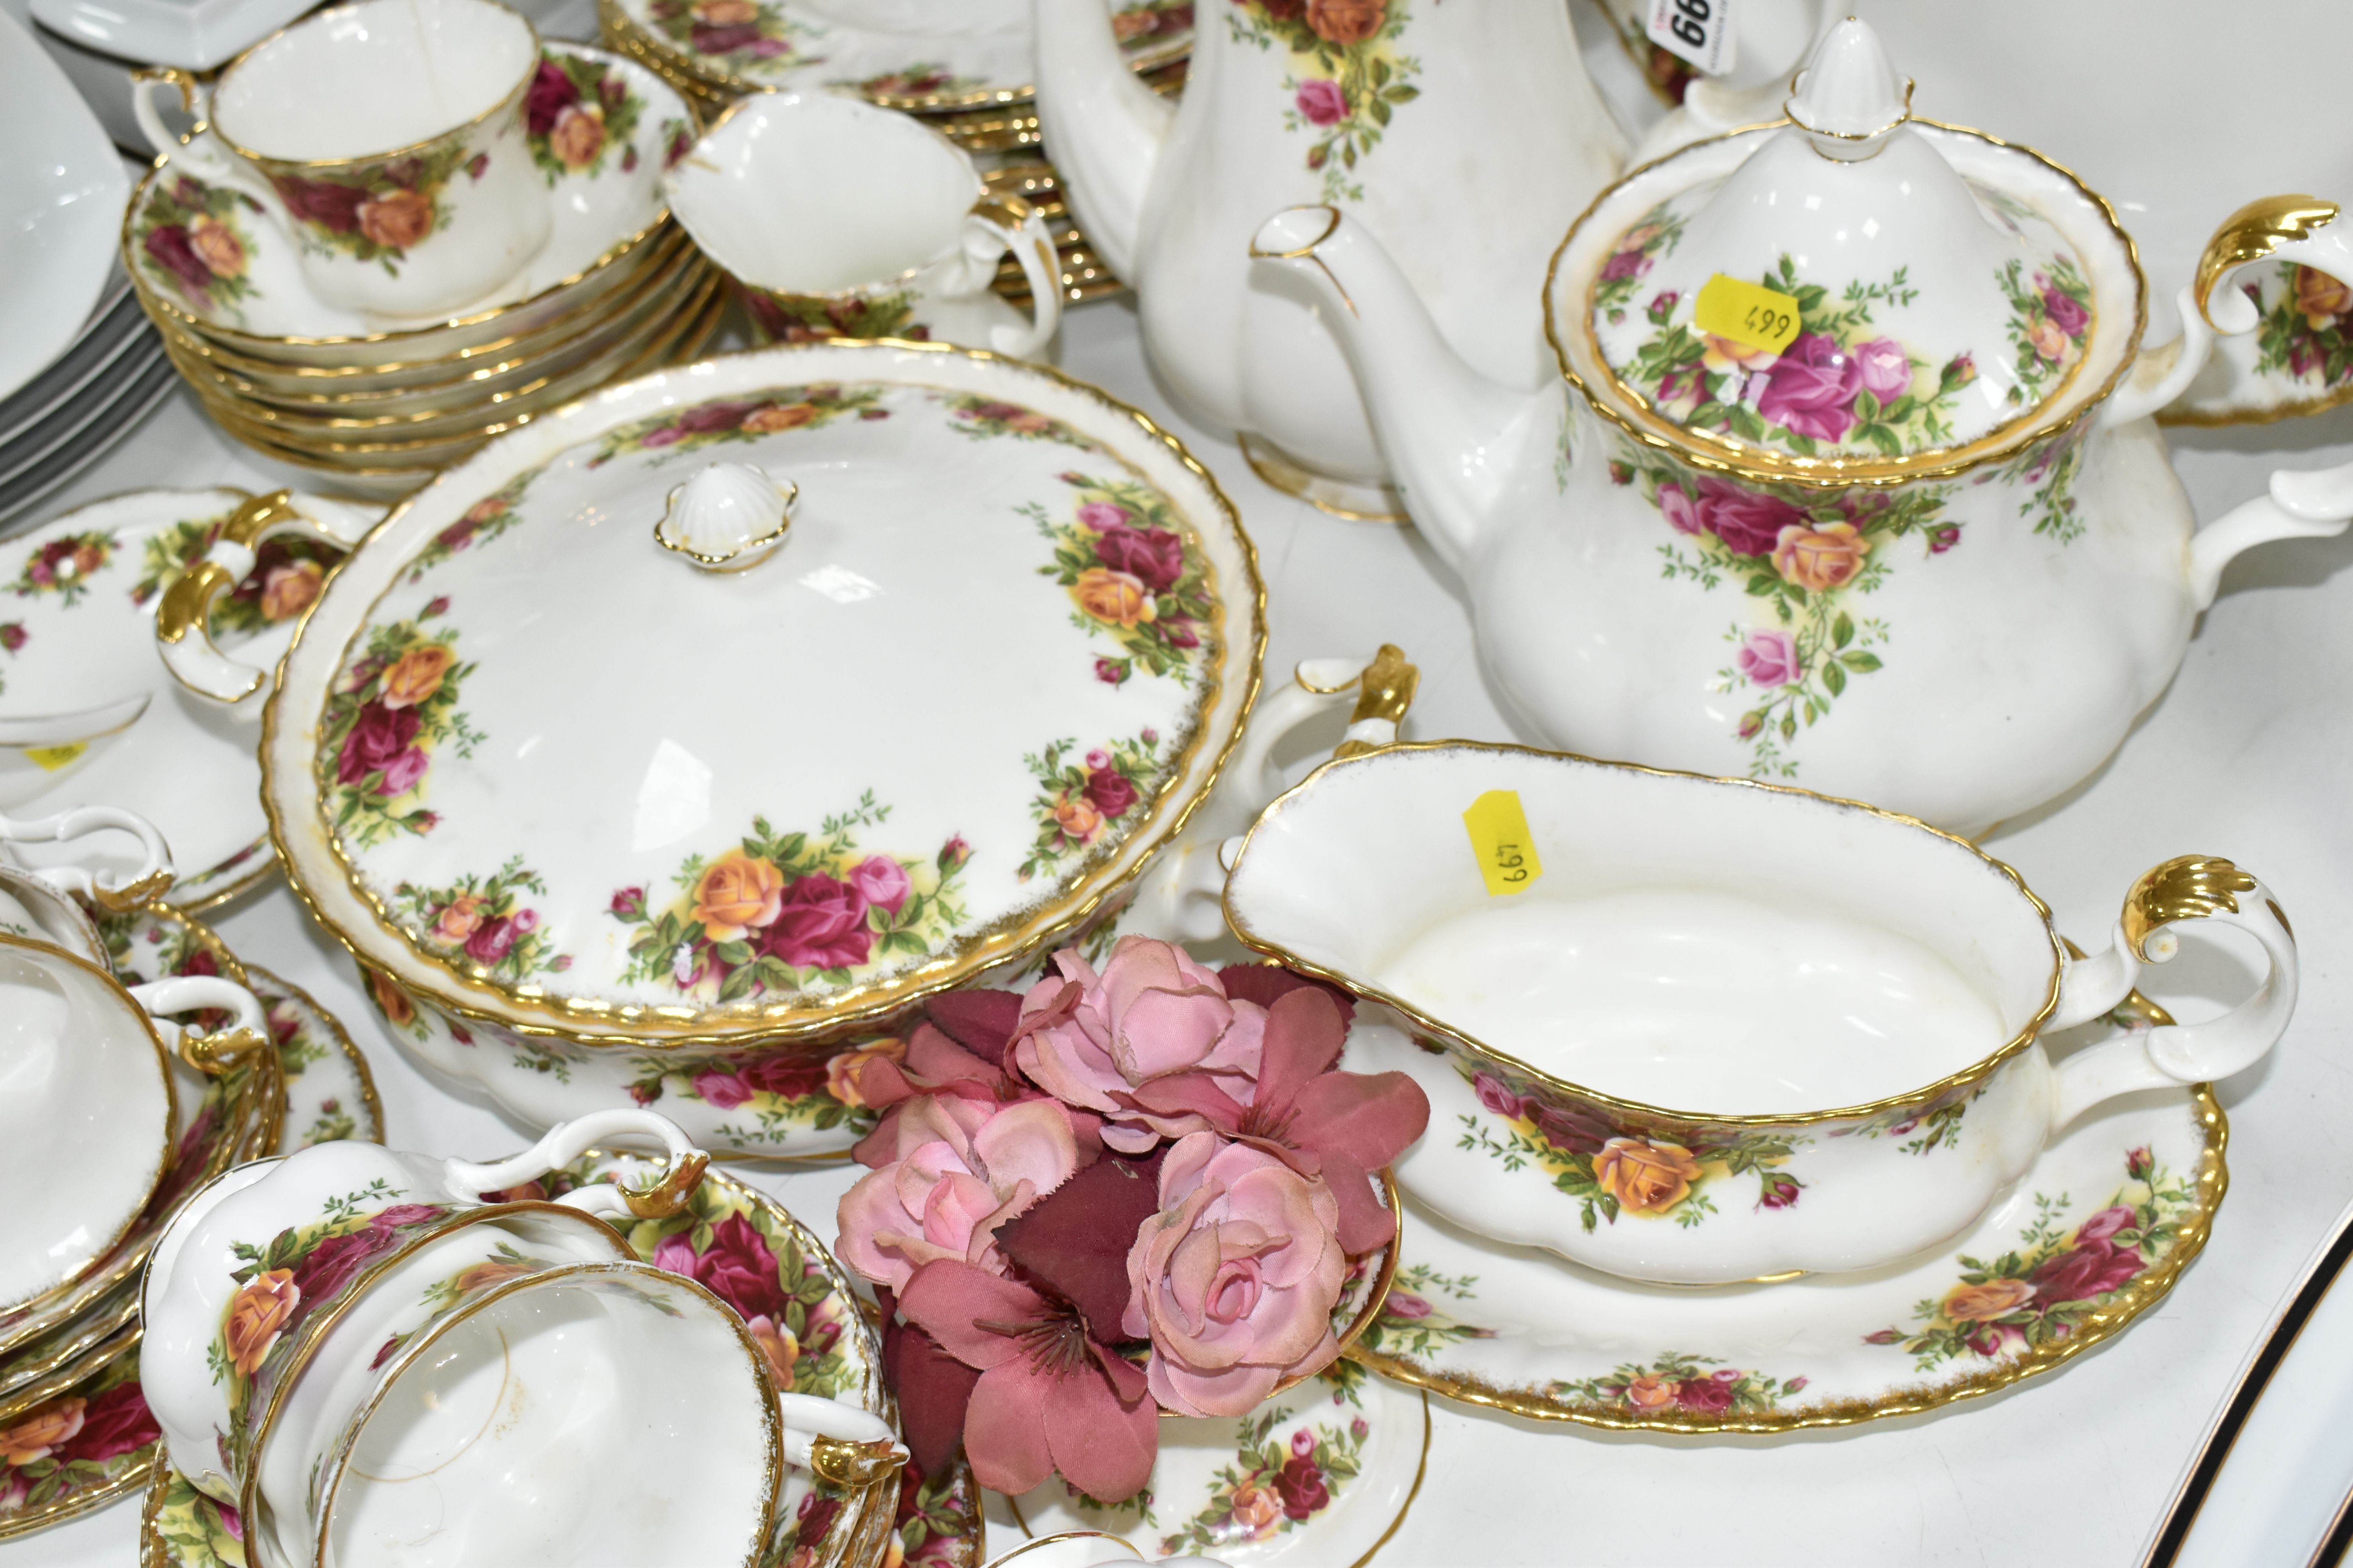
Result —
M 2179 856 L 2132 884 L 2108 952 L 2066 966 L 2059 1011 L 2047 1027 L 2089 1023 L 2125 1001 L 2144 964 L 2174 957 L 2179 938 L 2169 926 L 2184 919 L 2219 919 L 2249 931 L 2271 961 L 2264 983 L 2209 1023 L 2134 1030 L 2059 1063 L 2052 1131 L 2122 1093 L 2226 1079 L 2280 1044 L 2297 1011 L 2297 933 L 2268 886 L 2214 856 Z

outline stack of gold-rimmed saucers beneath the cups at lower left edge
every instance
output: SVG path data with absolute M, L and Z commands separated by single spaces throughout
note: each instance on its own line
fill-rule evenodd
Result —
M 174 1063 L 172 1157 L 146 1206 L 101 1258 L 0 1312 L 0 1542 L 132 1495 L 160 1467 L 139 1387 L 139 1276 L 181 1199 L 264 1154 L 334 1138 L 384 1143 L 367 1060 L 299 987 L 240 964 L 219 936 L 167 905 L 108 914 L 99 936 L 125 985 L 226 976 L 249 987 L 278 1053 L 224 1077 Z

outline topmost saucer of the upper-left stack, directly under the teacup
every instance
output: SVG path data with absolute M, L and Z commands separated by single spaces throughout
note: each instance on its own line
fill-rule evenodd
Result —
M 605 143 L 586 162 L 558 162 L 548 179 L 555 212 L 548 242 L 468 313 L 386 324 L 322 303 L 304 284 L 294 247 L 249 197 L 169 162 L 139 183 L 122 216 L 122 256 L 141 301 L 153 315 L 231 348 L 292 364 L 353 364 L 419 357 L 405 346 L 431 343 L 447 355 L 532 331 L 626 282 L 635 273 L 631 261 L 642 261 L 668 223 L 661 169 L 673 148 L 694 141 L 692 110 L 659 75 L 602 49 L 551 42 L 544 59 L 619 75 L 624 94 L 605 106 L 602 122 L 626 127 L 626 141 L 616 139 L 619 153 Z M 546 136 L 532 141 L 539 150 Z M 555 162 L 553 153 L 544 162 Z

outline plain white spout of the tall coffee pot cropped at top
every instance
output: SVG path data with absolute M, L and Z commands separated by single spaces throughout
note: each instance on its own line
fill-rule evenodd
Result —
M 1134 282 L 1144 195 L 1176 106 L 1120 56 L 1104 0 L 1035 0 L 1038 129 L 1087 242 Z

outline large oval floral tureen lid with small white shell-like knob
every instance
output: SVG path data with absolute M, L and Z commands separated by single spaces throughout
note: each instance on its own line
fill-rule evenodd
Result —
M 264 741 L 306 898 L 581 1039 L 873 1018 L 1066 933 L 1205 795 L 1259 581 L 1139 414 L 988 355 L 649 376 L 386 522 Z

